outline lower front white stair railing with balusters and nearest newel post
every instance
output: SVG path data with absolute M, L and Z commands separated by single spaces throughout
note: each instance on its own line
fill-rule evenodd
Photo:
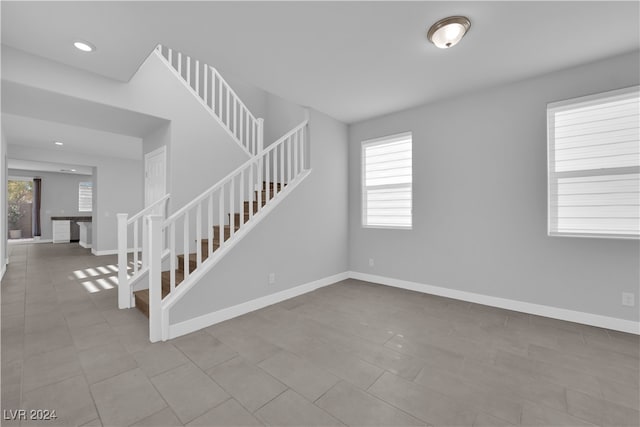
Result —
M 166 220 L 147 217 L 149 252 L 155 254 L 149 259 L 151 341 L 168 339 L 169 308 L 253 228 L 271 209 L 271 202 L 281 200 L 309 172 L 307 123 L 302 122 Z M 163 250 L 163 232 L 167 250 Z M 215 240 L 218 248 L 214 248 Z M 167 253 L 169 293 L 163 298 L 162 258 Z M 176 264 L 179 255 L 183 255 L 182 265 Z

